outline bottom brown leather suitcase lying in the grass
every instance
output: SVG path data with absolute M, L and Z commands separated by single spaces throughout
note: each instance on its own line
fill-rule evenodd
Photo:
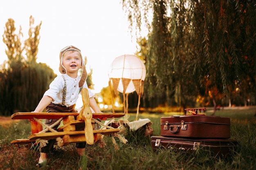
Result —
M 171 149 L 173 151 L 183 150 L 192 153 L 199 148 L 210 150 L 214 156 L 221 158 L 231 155 L 237 150 L 238 141 L 233 139 L 187 139 L 176 137 L 152 136 L 151 146 L 156 151 L 158 148 Z

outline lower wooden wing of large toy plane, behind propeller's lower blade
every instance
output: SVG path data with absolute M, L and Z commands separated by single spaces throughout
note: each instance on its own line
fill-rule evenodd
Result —
M 93 133 L 101 133 L 103 135 L 119 132 L 120 129 L 100 129 L 93 130 Z M 29 136 L 29 140 L 41 139 L 55 139 L 56 137 L 62 137 L 64 135 L 79 136 L 85 135 L 85 131 L 70 131 L 70 132 L 47 132 L 47 133 L 34 133 Z

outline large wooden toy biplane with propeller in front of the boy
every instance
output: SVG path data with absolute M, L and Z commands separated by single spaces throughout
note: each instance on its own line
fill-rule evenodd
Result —
M 89 107 L 88 89 L 82 89 L 83 109 L 80 113 L 34 113 L 34 112 L 17 112 L 14 113 L 12 119 L 60 119 L 62 118 L 63 126 L 59 127 L 57 131 L 40 133 L 43 130 L 42 124 L 31 121 L 31 135 L 29 139 L 16 139 L 11 141 L 11 144 L 29 144 L 35 142 L 36 139 L 56 139 L 61 137 L 63 142 L 60 146 L 66 146 L 69 143 L 86 142 L 93 144 L 101 139 L 101 135 L 117 133 L 118 128 L 113 129 L 94 129 L 96 123 L 93 119 L 102 118 L 120 118 L 125 116 L 125 113 L 92 113 Z M 92 119 L 93 118 L 93 119 Z M 77 131 L 76 129 L 84 128 L 84 131 Z M 80 128 L 79 128 L 80 127 Z

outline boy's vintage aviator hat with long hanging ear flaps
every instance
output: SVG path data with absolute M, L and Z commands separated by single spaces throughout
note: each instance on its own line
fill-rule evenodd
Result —
M 80 57 L 81 57 L 81 65 L 82 65 L 82 75 L 81 75 L 81 79 L 79 81 L 79 87 L 82 87 L 86 78 L 87 78 L 87 72 L 86 72 L 86 69 L 85 69 L 85 65 L 84 65 L 84 62 L 83 62 L 83 57 L 82 57 L 82 54 L 81 54 L 81 50 L 79 50 L 78 48 L 76 48 L 75 46 L 66 46 L 65 48 L 63 48 L 60 52 L 60 66 L 59 66 L 59 71 L 61 72 L 61 74 L 65 74 L 66 73 L 66 69 L 63 67 L 63 54 L 67 51 L 70 51 L 70 50 L 75 50 L 75 51 L 78 51 L 79 54 L 80 54 Z

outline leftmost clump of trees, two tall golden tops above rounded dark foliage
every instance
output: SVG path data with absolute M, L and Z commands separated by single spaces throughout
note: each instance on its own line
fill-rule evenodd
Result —
M 30 21 L 34 19 L 30 17 Z M 9 19 L 5 24 L 3 41 L 6 44 L 8 61 L 1 65 L 0 72 L 0 114 L 11 115 L 16 111 L 29 112 L 49 88 L 56 76 L 45 63 L 36 63 L 41 23 L 34 27 L 30 22 L 29 38 L 22 46 L 21 27 L 15 33 L 15 22 Z M 26 50 L 27 57 L 23 56 Z

